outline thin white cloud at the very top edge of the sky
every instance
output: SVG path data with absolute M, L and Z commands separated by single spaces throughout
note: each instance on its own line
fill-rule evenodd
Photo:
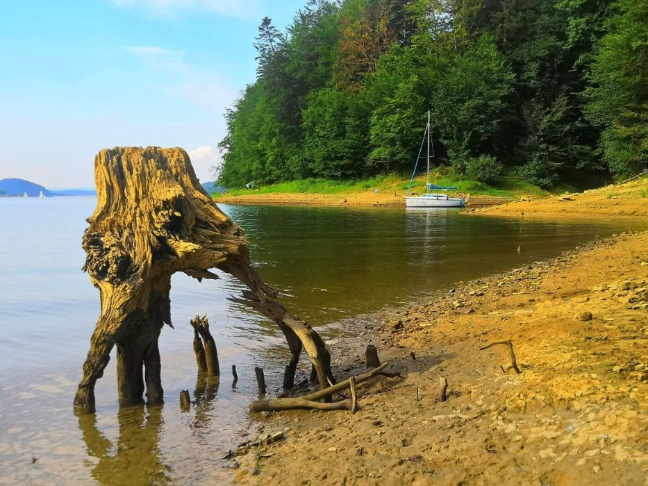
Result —
M 158 15 L 175 15 L 180 10 L 203 10 L 229 17 L 258 17 L 258 0 L 111 0 L 120 7 L 144 8 Z

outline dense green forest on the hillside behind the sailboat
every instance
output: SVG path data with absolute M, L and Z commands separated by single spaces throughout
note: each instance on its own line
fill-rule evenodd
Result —
M 428 110 L 438 159 L 479 180 L 647 168 L 647 1 L 309 0 L 254 46 L 226 187 L 411 170 Z

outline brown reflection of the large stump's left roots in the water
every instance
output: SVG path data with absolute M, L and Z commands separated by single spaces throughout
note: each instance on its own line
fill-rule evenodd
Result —
M 102 485 L 165 485 L 170 468 L 160 453 L 164 432 L 162 405 L 122 407 L 117 412 L 119 436 L 115 444 L 97 427 L 96 414 L 78 417 L 88 455 L 97 458 L 92 477 Z

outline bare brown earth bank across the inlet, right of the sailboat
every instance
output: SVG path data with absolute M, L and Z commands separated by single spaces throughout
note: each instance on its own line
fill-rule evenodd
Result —
M 648 177 L 578 194 L 563 194 L 533 200 L 523 197 L 499 206 L 469 209 L 468 212 L 497 216 L 542 217 L 648 217 Z

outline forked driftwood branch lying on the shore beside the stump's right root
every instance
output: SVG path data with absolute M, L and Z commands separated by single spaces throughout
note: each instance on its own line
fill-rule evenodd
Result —
M 383 369 L 387 365 L 388 363 L 383 363 L 379 367 L 367 371 L 367 373 L 365 374 L 352 376 L 348 380 L 341 381 L 340 383 L 336 383 L 331 387 L 320 389 L 319 391 L 308 395 L 281 398 L 281 399 L 258 400 L 252 403 L 251 408 L 253 412 L 265 412 L 265 411 L 272 411 L 272 410 L 292 410 L 294 408 L 316 408 L 318 410 L 351 410 L 352 412 L 355 412 L 357 408 L 357 395 L 355 399 L 356 402 L 355 406 L 353 403 L 354 402 L 353 398 L 351 398 L 351 400 L 343 400 L 335 403 L 321 403 L 318 402 L 317 400 L 325 399 L 335 393 L 342 392 L 342 390 L 347 388 L 353 387 L 353 389 L 355 389 L 356 385 L 363 383 L 364 381 L 367 381 L 369 378 L 372 378 L 373 376 L 378 376 L 378 375 L 390 376 L 390 377 L 400 376 L 400 374 L 398 373 L 388 373 L 387 371 L 383 371 Z M 353 395 L 354 392 L 351 391 L 351 396 L 353 397 Z

